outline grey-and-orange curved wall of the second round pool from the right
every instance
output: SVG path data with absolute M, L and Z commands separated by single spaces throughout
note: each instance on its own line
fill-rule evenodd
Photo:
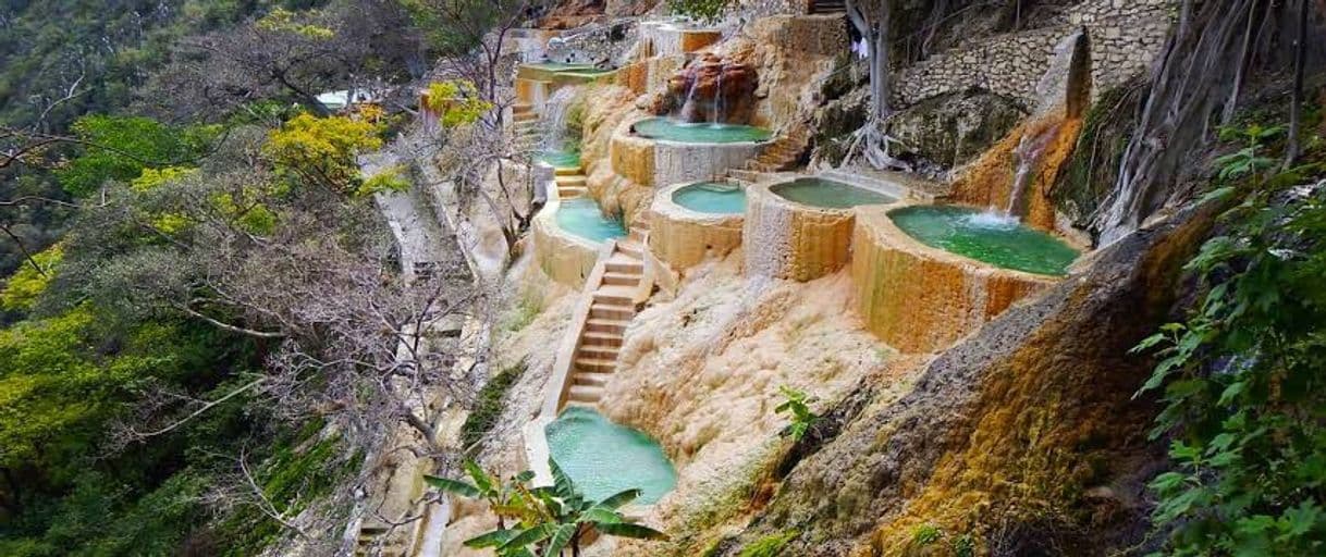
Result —
M 745 273 L 809 281 L 846 267 L 851 261 L 855 214 L 873 206 L 830 208 L 797 203 L 772 190 L 786 183 L 747 186 L 741 233 Z M 894 200 L 876 194 L 879 202 Z

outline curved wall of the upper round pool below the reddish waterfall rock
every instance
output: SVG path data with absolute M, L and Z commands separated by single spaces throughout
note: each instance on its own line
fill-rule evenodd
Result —
M 634 123 L 634 122 L 631 122 Z M 643 187 L 703 182 L 741 168 L 764 153 L 768 142 L 682 143 L 635 135 L 623 123 L 613 134 L 609 159 L 613 172 Z

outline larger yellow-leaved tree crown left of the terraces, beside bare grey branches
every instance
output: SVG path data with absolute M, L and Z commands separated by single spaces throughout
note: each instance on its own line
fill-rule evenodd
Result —
M 300 114 L 268 137 L 263 153 L 288 180 L 365 195 L 355 156 L 382 147 L 378 126 L 350 117 Z

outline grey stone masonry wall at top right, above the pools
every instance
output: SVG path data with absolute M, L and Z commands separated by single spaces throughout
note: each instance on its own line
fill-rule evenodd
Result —
M 899 72 L 894 102 L 900 106 L 972 88 L 1040 103 L 1036 85 L 1050 66 L 1054 48 L 1086 28 L 1093 98 L 1144 70 L 1163 48 L 1174 0 L 1087 0 L 1059 25 L 1002 34 L 972 46 L 937 53 Z

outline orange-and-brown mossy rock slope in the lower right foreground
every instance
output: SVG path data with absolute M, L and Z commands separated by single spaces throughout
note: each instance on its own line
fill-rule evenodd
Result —
M 721 554 L 770 536 L 790 538 L 785 554 L 926 554 L 914 538 L 930 526 L 992 554 L 1140 542 L 1160 455 L 1146 439 L 1152 402 L 1131 398 L 1152 362 L 1128 350 L 1166 318 L 1207 220 L 1184 215 L 1098 253 L 939 355 L 898 403 L 873 404 L 878 385 L 859 385 Z

